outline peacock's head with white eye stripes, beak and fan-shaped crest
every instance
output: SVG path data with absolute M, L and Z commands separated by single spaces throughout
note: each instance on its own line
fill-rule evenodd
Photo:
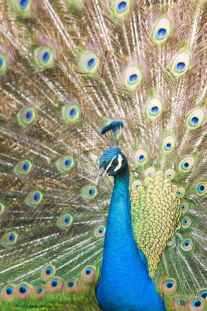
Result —
M 108 138 L 112 149 L 101 156 L 96 184 L 106 176 L 122 175 L 128 169 L 127 159 L 118 148 L 122 128 L 121 122 L 114 121 L 101 131 Z

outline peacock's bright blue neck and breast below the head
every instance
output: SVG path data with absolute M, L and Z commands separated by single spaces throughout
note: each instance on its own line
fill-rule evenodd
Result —
M 146 257 L 134 239 L 128 185 L 127 169 L 114 179 L 97 300 L 104 311 L 163 311 Z

